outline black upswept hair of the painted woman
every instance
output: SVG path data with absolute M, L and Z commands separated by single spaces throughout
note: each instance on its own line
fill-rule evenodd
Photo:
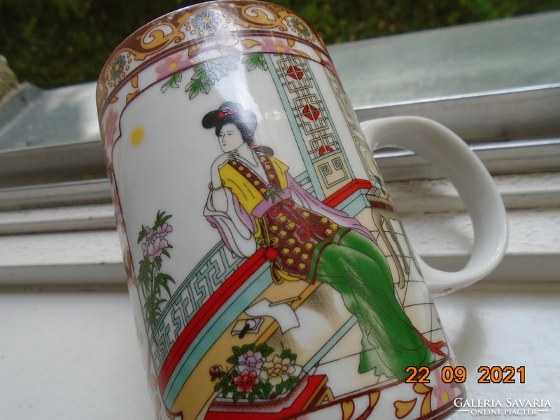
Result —
M 202 127 L 216 127 L 216 137 L 220 137 L 222 127 L 226 124 L 235 124 L 243 141 L 251 148 L 273 155 L 274 152 L 267 146 L 257 146 L 255 144 L 255 128 L 257 127 L 257 116 L 252 111 L 243 109 L 241 104 L 235 102 L 224 102 L 218 109 L 210 111 L 202 118 Z

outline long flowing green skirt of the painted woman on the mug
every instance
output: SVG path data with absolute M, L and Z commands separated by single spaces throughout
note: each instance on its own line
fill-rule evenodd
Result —
M 407 367 L 430 366 L 434 355 L 395 296 L 385 256 L 373 241 L 344 228 L 315 249 L 307 281 L 330 284 L 358 319 L 362 351 L 358 372 L 409 377 Z

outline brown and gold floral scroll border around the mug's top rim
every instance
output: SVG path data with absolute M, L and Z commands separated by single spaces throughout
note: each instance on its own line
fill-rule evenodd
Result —
M 97 110 L 104 116 L 120 97 L 130 102 L 146 87 L 195 64 L 255 52 L 300 55 L 335 73 L 316 31 L 289 10 L 258 1 L 212 1 L 169 13 L 123 41 L 99 76 Z M 155 71 L 145 71 L 151 66 Z

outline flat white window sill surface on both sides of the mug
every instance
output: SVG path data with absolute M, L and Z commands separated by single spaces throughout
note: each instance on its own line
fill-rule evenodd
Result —
M 501 285 L 501 286 L 500 286 Z M 468 398 L 549 399 L 558 416 L 560 290 L 477 283 L 435 304 L 467 372 Z M 554 320 L 551 318 L 554 316 Z M 127 293 L 1 293 L 0 418 L 153 420 Z M 514 325 L 514 328 L 512 328 Z M 544 339 L 546 337 L 546 339 Z M 37 344 L 40 343 L 40 351 Z M 479 366 L 526 367 L 525 384 L 477 384 Z M 79 372 L 79 374 L 77 374 Z M 469 412 L 453 419 L 472 419 Z

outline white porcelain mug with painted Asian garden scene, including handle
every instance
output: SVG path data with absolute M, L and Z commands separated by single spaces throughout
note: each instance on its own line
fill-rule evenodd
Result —
M 482 278 L 507 236 L 461 139 L 422 118 L 360 127 L 316 31 L 255 1 L 135 31 L 106 62 L 97 106 L 158 419 L 456 409 L 465 391 L 430 290 Z M 442 167 L 468 206 L 475 246 L 460 272 L 410 248 L 372 160 L 389 144 Z

